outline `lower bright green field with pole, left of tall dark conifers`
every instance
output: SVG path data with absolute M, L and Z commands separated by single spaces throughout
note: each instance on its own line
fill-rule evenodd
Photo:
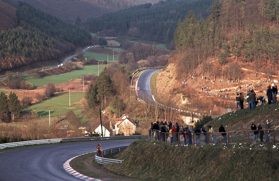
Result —
M 74 104 L 84 98 L 84 95 L 85 93 L 83 92 L 71 93 L 71 106 L 69 106 L 69 92 L 59 93 L 49 99 L 29 106 L 26 111 L 31 112 L 32 110 L 35 110 L 38 115 L 47 117 L 49 115 L 48 110 L 51 110 L 50 116 L 54 117 L 58 114 L 65 115 L 69 110 L 72 110 L 82 120 L 85 119 L 85 117 L 80 116 L 82 107 Z

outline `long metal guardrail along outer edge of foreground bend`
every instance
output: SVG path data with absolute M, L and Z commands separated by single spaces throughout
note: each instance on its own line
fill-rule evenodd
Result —
M 60 138 L 60 139 L 49 139 L 49 140 L 33 140 L 33 141 L 22 141 L 14 143 L 0 144 L 0 149 L 25 146 L 25 145 L 40 145 L 49 143 L 62 143 L 72 141 L 99 141 L 99 140 L 119 140 L 119 139 L 139 139 L 146 138 L 148 135 L 131 135 L 131 136 L 110 136 L 110 137 L 84 137 L 84 138 Z

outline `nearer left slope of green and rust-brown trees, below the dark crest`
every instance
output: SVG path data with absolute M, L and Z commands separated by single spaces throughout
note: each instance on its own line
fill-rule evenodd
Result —
M 61 43 L 24 24 L 0 34 L 0 70 L 57 58 L 65 51 L 74 50 L 72 44 Z

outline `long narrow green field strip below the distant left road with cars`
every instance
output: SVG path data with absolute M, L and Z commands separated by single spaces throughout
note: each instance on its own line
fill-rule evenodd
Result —
M 106 65 L 100 65 L 99 66 L 99 72 L 101 73 L 102 70 L 104 69 Z M 64 74 L 60 75 L 52 75 L 52 76 L 46 76 L 42 78 L 35 77 L 33 75 L 23 75 L 22 78 L 25 79 L 26 81 L 33 83 L 34 87 L 39 87 L 39 86 L 45 86 L 48 83 L 53 83 L 53 84 L 60 84 L 67 82 L 70 79 L 76 79 L 79 77 L 82 77 L 87 74 L 98 74 L 98 65 L 86 65 L 80 70 L 75 70 L 73 72 L 67 72 Z

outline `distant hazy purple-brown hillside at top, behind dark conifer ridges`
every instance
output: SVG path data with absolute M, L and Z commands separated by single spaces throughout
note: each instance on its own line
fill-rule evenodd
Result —
M 45 13 L 49 13 L 68 23 L 76 24 L 77 17 L 80 18 L 80 25 L 83 26 L 87 18 L 98 17 L 104 13 L 115 12 L 135 6 L 136 3 L 130 0 L 21 0 L 31 4 Z M 146 0 L 145 0 L 146 1 Z M 85 27 L 86 28 L 86 27 Z

